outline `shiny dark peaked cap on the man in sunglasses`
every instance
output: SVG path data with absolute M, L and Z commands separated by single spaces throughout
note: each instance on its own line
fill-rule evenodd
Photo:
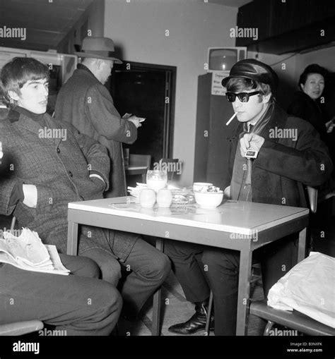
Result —
M 222 80 L 224 87 L 230 78 L 249 78 L 259 83 L 267 83 L 271 85 L 272 90 L 276 90 L 278 87 L 278 75 L 272 70 L 271 66 L 254 59 L 245 59 L 235 63 L 229 76 Z

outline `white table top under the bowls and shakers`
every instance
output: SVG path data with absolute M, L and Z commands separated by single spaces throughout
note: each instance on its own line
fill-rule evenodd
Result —
M 131 203 L 127 204 L 127 198 Z M 147 209 L 135 203 L 135 200 L 129 196 L 70 202 L 69 209 L 245 235 L 252 235 L 255 231 L 264 231 L 292 219 L 304 217 L 309 212 L 307 208 L 237 201 L 224 201 L 216 209 L 201 209 L 198 205 L 158 208 L 157 204 Z

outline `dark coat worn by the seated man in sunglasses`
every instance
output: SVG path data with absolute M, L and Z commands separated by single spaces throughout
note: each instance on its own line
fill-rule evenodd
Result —
M 241 132 L 239 123 L 229 139 L 230 175 Z M 253 202 L 307 207 L 305 185 L 321 185 L 333 170 L 319 133 L 307 121 L 288 116 L 274 104 L 271 119 L 260 135 L 265 140 L 252 166 Z

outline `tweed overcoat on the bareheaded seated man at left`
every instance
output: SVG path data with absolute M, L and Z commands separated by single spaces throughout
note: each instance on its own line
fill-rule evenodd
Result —
M 43 116 L 45 128 L 17 111 L 10 111 L 0 121 L 0 140 L 6 157 L 1 164 L 4 170 L 0 214 L 14 214 L 19 226 L 37 231 L 44 243 L 57 245 L 59 252 L 65 253 L 68 203 L 102 198 L 105 183 L 108 188 L 110 159 L 105 147 L 79 133 L 70 123 L 57 121 L 48 114 Z M 53 138 L 48 138 L 47 129 L 54 130 Z M 66 133 L 66 140 L 56 138 L 56 130 Z M 99 174 L 105 183 L 90 178 L 90 171 Z M 10 205 L 18 181 L 36 186 L 36 208 L 22 201 Z M 125 260 L 136 241 L 134 236 L 127 238 L 122 233 L 82 226 L 78 251 L 101 248 L 111 252 L 115 248 L 112 255 Z

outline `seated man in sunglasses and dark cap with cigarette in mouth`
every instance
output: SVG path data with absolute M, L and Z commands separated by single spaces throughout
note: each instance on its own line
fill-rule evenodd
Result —
M 333 166 L 317 131 L 278 107 L 273 96 L 277 85 L 272 68 L 254 59 L 235 63 L 223 79 L 226 98 L 240 122 L 230 138 L 230 198 L 307 207 L 304 185 L 322 184 Z M 283 238 L 257 253 L 265 298 L 269 288 L 295 264 L 298 248 L 294 238 Z M 165 244 L 165 253 L 172 260 L 187 300 L 196 303 L 194 315 L 169 330 L 192 334 L 204 329 L 212 290 L 215 334 L 235 335 L 238 252 L 171 241 Z

